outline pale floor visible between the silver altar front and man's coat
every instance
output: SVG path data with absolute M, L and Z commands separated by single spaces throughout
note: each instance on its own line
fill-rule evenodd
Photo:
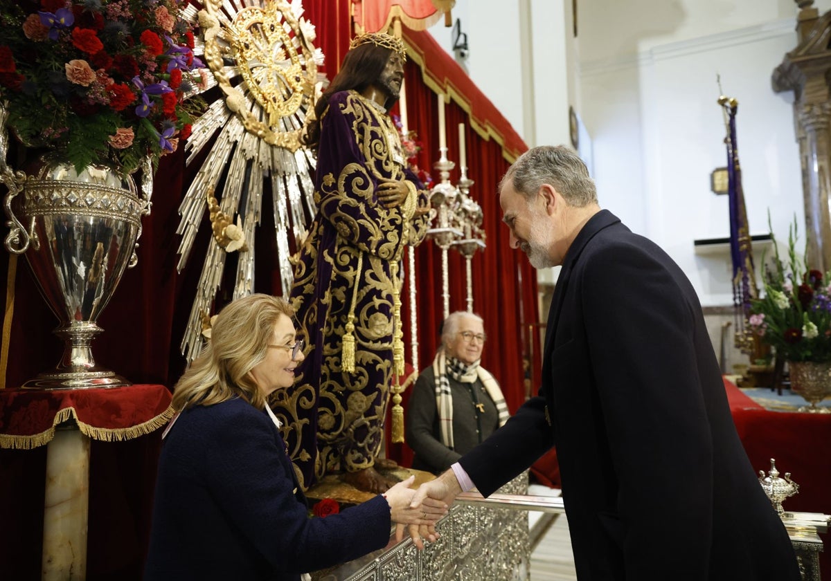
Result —
M 529 486 L 529 495 L 559 496 L 559 491 L 532 484 Z M 546 521 L 553 517 L 548 524 Z M 574 557 L 571 550 L 571 539 L 568 536 L 568 520 L 566 515 L 543 515 L 529 513 L 529 525 L 545 527 L 537 546 L 531 553 L 530 581 L 576 581 L 574 572 Z

